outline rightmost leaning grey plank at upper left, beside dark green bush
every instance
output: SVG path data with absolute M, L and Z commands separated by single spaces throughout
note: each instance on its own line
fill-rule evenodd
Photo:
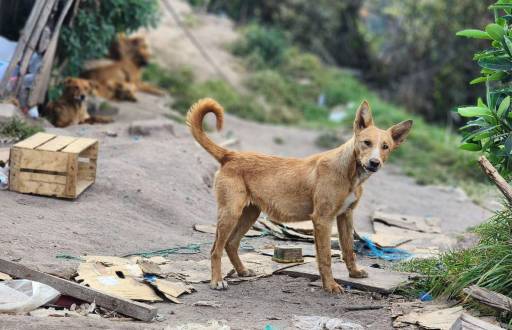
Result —
M 59 20 L 57 24 L 55 24 L 55 28 L 53 29 L 53 36 L 50 40 L 50 44 L 48 45 L 48 49 L 46 50 L 41 71 L 36 76 L 34 80 L 34 84 L 32 86 L 32 90 L 30 91 L 28 105 L 34 106 L 44 102 L 46 91 L 48 90 L 48 84 L 50 82 L 50 74 L 53 67 L 53 59 L 55 57 L 55 52 L 57 51 L 57 44 L 59 42 L 59 34 L 60 28 L 62 27 L 62 23 L 64 23 L 64 19 L 73 4 L 73 0 L 67 0 L 62 12 L 60 13 Z

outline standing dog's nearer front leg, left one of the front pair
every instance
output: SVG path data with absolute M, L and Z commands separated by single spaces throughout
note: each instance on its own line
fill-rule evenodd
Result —
M 322 278 L 324 290 L 329 293 L 342 293 L 343 288 L 336 283 L 331 268 L 331 230 L 332 219 L 313 220 L 316 247 L 316 262 Z

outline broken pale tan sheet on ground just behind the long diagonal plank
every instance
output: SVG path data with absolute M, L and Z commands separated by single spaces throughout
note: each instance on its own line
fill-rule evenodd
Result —
M 131 300 L 162 301 L 151 287 L 135 279 L 143 276 L 136 264 L 107 267 L 101 263 L 84 262 L 78 266 L 77 273 L 76 281 L 101 292 Z

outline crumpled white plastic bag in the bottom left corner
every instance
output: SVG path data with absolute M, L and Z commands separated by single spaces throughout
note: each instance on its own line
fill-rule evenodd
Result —
M 28 313 L 58 296 L 60 296 L 59 291 L 39 282 L 29 280 L 0 282 L 0 313 Z

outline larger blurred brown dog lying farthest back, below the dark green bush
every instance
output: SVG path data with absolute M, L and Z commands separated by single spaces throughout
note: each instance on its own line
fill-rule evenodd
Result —
M 95 80 L 100 84 L 101 96 L 111 100 L 136 101 L 136 91 L 164 95 L 159 88 L 142 81 L 142 69 L 148 65 L 151 56 L 143 37 L 119 35 L 110 54 L 112 61 L 91 68 L 82 74 L 82 77 Z

